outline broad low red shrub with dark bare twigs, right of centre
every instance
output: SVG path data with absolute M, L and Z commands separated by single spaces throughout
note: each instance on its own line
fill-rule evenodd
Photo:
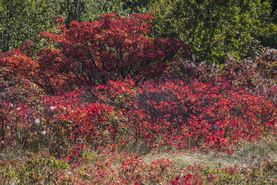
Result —
M 231 151 L 239 141 L 253 141 L 264 132 L 276 132 L 274 88 L 267 91 L 272 102 L 263 94 L 251 95 L 228 87 L 225 80 L 217 87 L 195 80 L 150 81 L 136 89 L 132 81 L 126 80 L 108 81 L 93 92 L 100 102 L 115 108 L 119 125 L 123 124 L 117 127 L 118 133 L 129 142 L 144 140 L 150 148 Z

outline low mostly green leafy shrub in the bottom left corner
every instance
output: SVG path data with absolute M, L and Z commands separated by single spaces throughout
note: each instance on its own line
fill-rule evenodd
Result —
M 50 153 L 29 153 L 29 158 L 22 162 L 1 161 L 0 178 L 1 183 L 14 184 L 38 184 L 39 182 L 50 182 L 55 179 L 55 173 L 68 169 L 68 164 L 63 160 L 57 160 Z

